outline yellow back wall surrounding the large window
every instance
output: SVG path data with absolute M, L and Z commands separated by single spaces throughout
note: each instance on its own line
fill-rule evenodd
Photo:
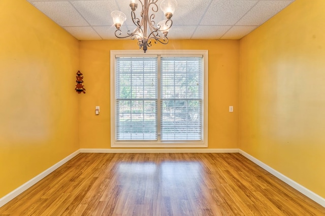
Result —
M 138 49 L 133 40 L 81 41 L 80 148 L 110 148 L 110 50 Z M 177 41 L 149 49 L 209 50 L 209 148 L 238 148 L 239 41 Z M 139 51 L 142 52 L 142 51 Z M 95 106 L 101 114 L 95 115 Z M 229 105 L 234 113 L 229 113 Z

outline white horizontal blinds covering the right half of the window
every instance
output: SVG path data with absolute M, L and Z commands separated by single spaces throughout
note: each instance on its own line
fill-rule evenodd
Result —
M 161 58 L 161 140 L 202 140 L 202 57 Z

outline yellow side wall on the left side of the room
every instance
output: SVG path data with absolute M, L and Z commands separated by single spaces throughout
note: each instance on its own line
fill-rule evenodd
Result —
M 25 0 L 0 1 L 0 198 L 79 149 L 79 42 Z

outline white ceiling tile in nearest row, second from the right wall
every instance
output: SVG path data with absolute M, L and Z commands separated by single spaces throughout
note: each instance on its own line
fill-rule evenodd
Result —
M 204 15 L 202 25 L 234 25 L 257 1 L 213 1 Z

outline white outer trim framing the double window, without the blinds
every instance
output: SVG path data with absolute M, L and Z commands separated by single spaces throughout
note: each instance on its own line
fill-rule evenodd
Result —
M 203 138 L 201 141 L 116 141 L 115 138 L 115 56 L 191 56 L 203 55 Z M 111 109 L 111 148 L 207 148 L 208 147 L 208 50 L 111 50 L 110 52 L 110 109 Z

